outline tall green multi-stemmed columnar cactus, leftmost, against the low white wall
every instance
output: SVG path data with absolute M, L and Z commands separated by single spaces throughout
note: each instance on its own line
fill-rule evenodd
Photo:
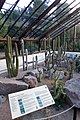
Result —
M 18 49 L 17 44 L 15 43 L 15 58 L 16 58 L 16 64 L 13 61 L 13 52 L 12 52 L 12 42 L 11 38 L 7 36 L 7 41 L 5 44 L 5 57 L 6 57 L 6 65 L 8 70 L 8 76 L 9 77 L 16 77 L 18 74 Z

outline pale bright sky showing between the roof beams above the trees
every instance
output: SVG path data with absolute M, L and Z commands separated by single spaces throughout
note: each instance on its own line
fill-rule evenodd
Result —
M 55 0 L 46 0 L 48 6 L 52 4 L 52 2 L 54 2 Z M 61 3 L 63 3 L 65 0 L 61 0 Z M 73 7 L 75 4 L 79 3 L 79 0 L 66 0 L 66 3 L 71 3 L 73 1 L 73 3 L 70 5 L 70 7 Z M 13 4 L 15 4 L 16 0 L 6 0 L 6 2 L 4 3 L 2 10 L 1 11 L 5 11 L 6 9 L 10 9 Z M 20 0 L 17 4 L 17 6 L 15 7 L 15 9 L 22 9 L 25 8 L 26 6 L 28 6 L 28 4 L 31 2 L 31 0 Z M 31 6 L 33 5 L 33 3 L 31 4 Z M 78 4 L 74 9 L 76 9 L 77 7 L 79 7 L 80 4 Z M 53 8 L 51 11 L 53 11 L 55 8 Z M 50 11 L 50 13 L 51 13 Z

